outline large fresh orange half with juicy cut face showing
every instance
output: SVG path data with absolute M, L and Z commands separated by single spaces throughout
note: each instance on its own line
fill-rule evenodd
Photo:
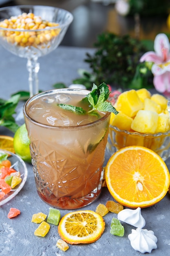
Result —
M 128 146 L 113 154 L 106 165 L 106 184 L 120 204 L 149 207 L 167 193 L 170 173 L 157 153 L 143 146 Z

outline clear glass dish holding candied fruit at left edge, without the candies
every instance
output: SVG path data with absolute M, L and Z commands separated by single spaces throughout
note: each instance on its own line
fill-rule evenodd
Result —
M 14 198 L 14 196 L 20 192 L 20 190 L 22 189 L 22 187 L 26 182 L 26 178 L 28 174 L 26 164 L 18 155 L 15 155 L 7 150 L 0 149 L 0 154 L 1 153 L 9 155 L 8 159 L 11 161 L 11 167 L 14 168 L 16 171 L 20 172 L 22 182 L 20 182 L 20 184 L 18 184 L 14 189 L 11 189 L 11 191 L 7 195 L 5 195 L 4 198 L 0 200 L 0 206 L 7 203 L 9 200 Z

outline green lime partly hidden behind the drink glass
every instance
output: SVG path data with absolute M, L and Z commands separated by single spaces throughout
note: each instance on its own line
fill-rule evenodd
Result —
M 20 126 L 13 137 L 13 147 L 15 153 L 19 155 L 24 161 L 31 162 L 31 155 L 29 150 L 30 140 L 25 124 Z

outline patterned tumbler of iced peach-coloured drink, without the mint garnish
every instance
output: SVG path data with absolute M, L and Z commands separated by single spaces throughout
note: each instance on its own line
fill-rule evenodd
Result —
M 79 115 L 57 104 L 87 109 L 87 90 L 58 89 L 29 99 L 24 118 L 40 198 L 53 207 L 76 209 L 99 195 L 109 112 Z

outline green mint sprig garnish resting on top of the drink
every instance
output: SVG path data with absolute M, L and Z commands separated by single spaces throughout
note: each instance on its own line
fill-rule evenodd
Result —
M 117 115 L 119 112 L 113 107 L 111 102 L 107 101 L 109 94 L 110 91 L 106 83 L 102 83 L 99 86 L 93 83 L 91 92 L 84 99 L 82 99 L 82 101 L 87 99 L 90 103 L 90 108 L 88 111 L 84 110 L 81 107 L 76 107 L 69 104 L 57 104 L 57 106 L 81 115 L 93 115 L 93 112 L 96 110 L 103 112 L 113 112 L 115 115 Z

